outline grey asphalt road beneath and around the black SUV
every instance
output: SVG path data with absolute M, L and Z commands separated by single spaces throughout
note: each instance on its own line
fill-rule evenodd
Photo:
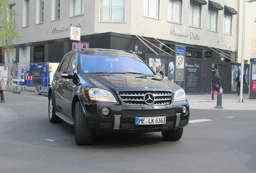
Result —
M 74 128 L 48 119 L 47 97 L 5 92 L 0 173 L 255 173 L 256 112 L 191 109 L 179 141 L 161 133 L 97 136 L 77 146 Z

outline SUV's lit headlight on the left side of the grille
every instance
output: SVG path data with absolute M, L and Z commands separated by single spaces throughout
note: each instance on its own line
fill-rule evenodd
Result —
M 89 96 L 91 100 L 117 103 L 114 95 L 107 90 L 91 88 L 89 89 Z

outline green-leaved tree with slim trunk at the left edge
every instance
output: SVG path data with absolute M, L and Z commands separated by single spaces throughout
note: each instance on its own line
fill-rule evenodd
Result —
M 10 51 L 14 48 L 14 40 L 19 42 L 18 28 L 15 24 L 13 16 L 17 15 L 10 11 L 10 0 L 0 0 L 0 46 L 2 52 L 6 52 L 8 58 L 8 81 L 7 86 L 10 86 Z

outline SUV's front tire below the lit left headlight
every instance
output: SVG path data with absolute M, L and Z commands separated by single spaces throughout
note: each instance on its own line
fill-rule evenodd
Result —
M 94 143 L 94 132 L 88 128 L 81 104 L 76 102 L 74 111 L 74 129 L 77 145 L 91 145 Z

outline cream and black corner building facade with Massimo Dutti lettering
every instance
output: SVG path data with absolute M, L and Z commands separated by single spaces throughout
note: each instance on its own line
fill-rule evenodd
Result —
M 217 70 L 224 92 L 235 91 L 232 75 L 241 60 L 237 56 L 239 0 L 12 2 L 10 9 L 18 14 L 14 17 L 22 36 L 14 45 L 12 62 L 60 62 L 79 42 L 70 40 L 74 26 L 80 28 L 80 42 L 86 46 L 130 50 L 150 66 L 161 66 L 165 77 L 187 93 L 210 93 Z M 181 55 L 177 46 L 184 50 Z M 2 55 L 0 63 L 4 62 Z

